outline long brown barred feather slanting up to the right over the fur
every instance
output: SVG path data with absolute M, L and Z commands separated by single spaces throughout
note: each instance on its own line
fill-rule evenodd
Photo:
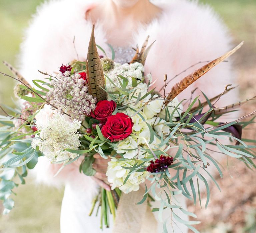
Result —
M 243 42 L 240 43 L 238 46 L 236 46 L 234 49 L 229 51 L 228 53 L 224 54 L 223 56 L 213 60 L 212 62 L 209 62 L 208 64 L 204 65 L 203 67 L 196 70 L 194 73 L 186 76 L 184 79 L 182 79 L 179 83 L 176 83 L 170 93 L 168 94 L 168 97 L 165 101 L 165 105 L 167 105 L 170 101 L 172 101 L 176 96 L 178 96 L 182 91 L 184 91 L 187 87 L 189 87 L 192 83 L 194 83 L 196 80 L 198 80 L 200 77 L 202 77 L 204 74 L 206 74 L 209 70 L 211 70 L 213 67 L 218 65 L 220 62 L 231 56 L 233 53 L 235 53 L 241 46 L 243 45 Z

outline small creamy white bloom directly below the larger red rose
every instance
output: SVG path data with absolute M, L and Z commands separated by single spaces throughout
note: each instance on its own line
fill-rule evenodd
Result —
M 134 158 L 138 154 L 138 144 L 131 136 L 119 142 L 114 148 L 117 153 L 122 154 L 124 158 Z

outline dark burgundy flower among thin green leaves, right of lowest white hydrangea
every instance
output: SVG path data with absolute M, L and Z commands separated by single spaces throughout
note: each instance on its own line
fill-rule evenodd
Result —
M 150 165 L 147 167 L 149 172 L 161 172 L 167 169 L 173 162 L 173 157 L 160 155 L 160 158 L 155 161 L 151 160 Z

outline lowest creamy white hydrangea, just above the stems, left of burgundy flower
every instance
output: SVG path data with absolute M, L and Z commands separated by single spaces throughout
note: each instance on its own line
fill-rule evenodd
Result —
M 129 169 L 123 167 L 132 167 L 139 160 L 136 159 L 117 159 L 112 158 L 108 162 L 108 169 L 106 175 L 108 177 L 108 182 L 112 183 L 111 189 L 118 187 L 124 193 L 129 193 L 131 191 L 138 191 L 140 186 L 139 184 L 143 183 L 145 179 L 149 176 L 149 172 L 133 172 L 125 184 L 124 180 L 126 179 Z

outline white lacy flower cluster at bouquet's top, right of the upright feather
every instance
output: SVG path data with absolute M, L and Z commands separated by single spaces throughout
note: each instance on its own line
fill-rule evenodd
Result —
M 132 78 L 134 77 L 137 80 L 141 80 L 143 77 L 144 66 L 135 62 L 132 64 L 125 63 L 123 65 L 119 63 L 115 63 L 115 69 L 110 70 L 109 72 L 105 72 L 105 75 L 119 88 L 121 88 L 120 83 L 118 81 L 121 80 L 117 77 L 117 75 L 121 75 L 129 80 L 127 88 L 132 87 Z M 113 84 L 106 78 L 106 89 L 107 91 L 113 90 Z

